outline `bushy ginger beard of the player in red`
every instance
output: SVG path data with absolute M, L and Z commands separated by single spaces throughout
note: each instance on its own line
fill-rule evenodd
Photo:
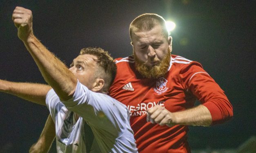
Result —
M 144 78 L 159 78 L 163 77 L 163 75 L 166 74 L 171 60 L 171 52 L 168 48 L 167 54 L 164 56 L 164 58 L 160 61 L 158 65 L 155 65 L 151 68 L 145 65 L 145 63 L 142 63 L 140 59 L 134 54 L 134 60 L 135 60 L 135 68 L 136 70 L 144 77 Z

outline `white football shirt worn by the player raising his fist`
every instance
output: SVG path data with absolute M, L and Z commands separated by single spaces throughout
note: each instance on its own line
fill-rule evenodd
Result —
M 56 126 L 58 153 L 137 153 L 129 111 L 125 105 L 106 94 L 88 90 L 78 82 L 68 101 L 61 102 L 54 90 L 46 96 L 46 105 Z M 73 112 L 80 117 L 75 120 Z M 86 124 L 95 136 L 90 140 Z M 89 144 L 85 143 L 89 142 Z

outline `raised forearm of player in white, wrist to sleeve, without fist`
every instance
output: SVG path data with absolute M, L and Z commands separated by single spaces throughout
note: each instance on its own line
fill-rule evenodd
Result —
M 77 79 L 72 72 L 49 52 L 35 36 L 32 35 L 23 42 L 36 61 L 45 81 L 53 87 L 60 99 L 68 100 L 71 98 L 77 84 Z

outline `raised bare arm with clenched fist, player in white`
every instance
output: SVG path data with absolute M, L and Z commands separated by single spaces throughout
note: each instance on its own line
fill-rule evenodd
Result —
M 45 81 L 51 85 L 61 100 L 71 98 L 77 79 L 65 64 L 33 35 L 32 12 L 23 7 L 16 7 L 12 19 L 18 28 L 18 37 L 30 52 Z

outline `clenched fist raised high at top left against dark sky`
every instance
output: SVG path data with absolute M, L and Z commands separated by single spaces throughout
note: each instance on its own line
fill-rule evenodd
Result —
M 23 7 L 16 7 L 12 14 L 14 25 L 18 28 L 18 37 L 25 41 L 33 35 L 32 11 Z

